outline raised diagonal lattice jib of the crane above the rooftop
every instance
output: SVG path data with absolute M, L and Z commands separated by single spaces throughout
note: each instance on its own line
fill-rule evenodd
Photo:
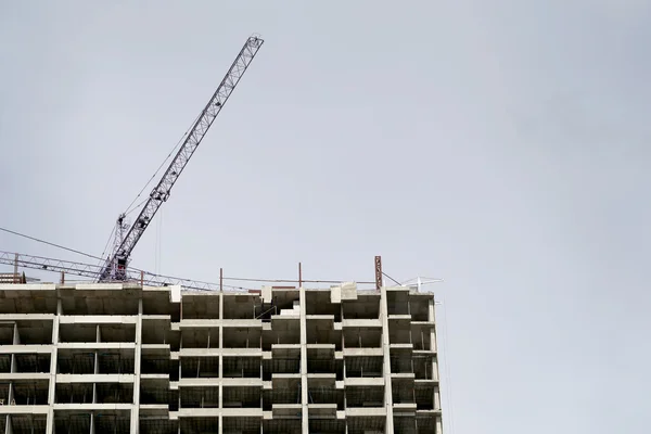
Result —
M 175 182 L 188 165 L 192 154 L 194 154 L 194 151 L 196 151 L 196 148 L 210 128 L 210 125 L 213 125 L 213 122 L 221 112 L 221 108 L 235 89 L 235 86 L 246 72 L 246 68 L 263 43 L 264 40 L 258 37 L 250 37 L 246 40 L 244 47 L 242 47 L 242 50 L 240 50 L 240 53 L 228 69 L 228 73 L 226 73 L 219 87 L 201 112 L 196 122 L 188 131 L 184 142 L 158 181 L 158 184 L 154 187 L 150 193 L 142 210 L 128 231 L 125 230 L 126 234 L 120 237 L 122 241 L 118 239 L 114 244 L 113 252 L 106 259 L 106 263 L 99 275 L 100 282 L 107 280 L 126 280 L 128 278 L 126 268 L 133 247 L 136 247 L 136 244 L 144 233 L 158 208 L 169 199 L 169 193 Z M 124 218 L 124 214 L 120 214 L 117 220 L 118 230 L 124 229 L 125 227 Z

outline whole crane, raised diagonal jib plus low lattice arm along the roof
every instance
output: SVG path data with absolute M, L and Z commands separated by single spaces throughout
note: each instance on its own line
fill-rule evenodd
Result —
M 244 42 L 244 46 L 217 87 L 217 90 L 188 130 L 184 141 L 158 183 L 151 191 L 133 224 L 129 225 L 127 222 L 125 213 L 118 216 L 113 250 L 102 266 L 92 266 L 40 256 L 18 255 L 9 252 L 0 252 L 0 264 L 67 272 L 76 276 L 90 277 L 97 279 L 99 282 L 133 279 L 154 285 L 183 284 L 188 288 L 213 289 L 214 284 L 212 283 L 153 275 L 142 270 L 128 269 L 128 266 L 131 252 L 138 244 L 138 241 L 156 215 L 156 212 L 169 199 L 171 188 L 190 162 L 196 148 L 201 144 L 201 141 L 213 125 L 213 122 L 221 112 L 221 108 L 224 108 L 224 105 L 251 65 L 251 62 L 253 62 L 253 59 L 263 43 L 264 40 L 257 36 L 252 36 L 246 39 L 246 42 Z

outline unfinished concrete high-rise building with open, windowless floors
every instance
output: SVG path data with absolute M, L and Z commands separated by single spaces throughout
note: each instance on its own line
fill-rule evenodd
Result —
M 0 284 L 0 433 L 442 433 L 431 293 Z

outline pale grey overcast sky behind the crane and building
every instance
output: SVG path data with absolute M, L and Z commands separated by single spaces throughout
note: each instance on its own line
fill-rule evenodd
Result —
M 381 254 L 446 279 L 448 433 L 648 431 L 649 1 L 110 3 L 0 2 L 0 226 L 101 254 L 259 33 L 133 265 Z

